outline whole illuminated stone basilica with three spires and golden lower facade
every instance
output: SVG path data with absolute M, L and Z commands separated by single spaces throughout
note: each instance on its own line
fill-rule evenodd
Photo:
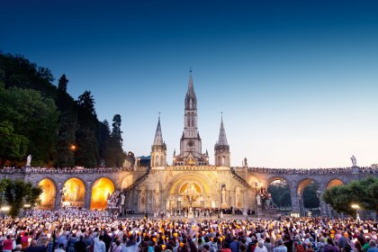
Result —
M 131 201 L 129 205 L 137 206 L 138 211 L 255 207 L 256 191 L 250 190 L 250 186 L 232 175 L 235 171 L 230 168 L 229 143 L 223 120 L 220 121 L 219 139 L 214 146 L 214 165 L 209 163 L 208 151 L 202 152 L 197 120 L 197 97 L 190 71 L 184 96 L 184 130 L 180 152 L 174 152 L 172 166 L 166 166 L 166 143 L 159 118 L 148 175 L 138 186 L 126 190 Z M 247 172 L 247 168 L 244 172 Z

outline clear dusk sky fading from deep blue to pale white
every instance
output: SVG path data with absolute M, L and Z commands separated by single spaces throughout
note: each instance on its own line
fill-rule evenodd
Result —
M 231 166 L 378 163 L 378 1 L 2 0 L 0 23 L 0 50 L 91 91 L 100 121 L 121 114 L 137 156 L 158 112 L 169 164 L 179 151 L 193 67 L 211 163 L 220 112 Z

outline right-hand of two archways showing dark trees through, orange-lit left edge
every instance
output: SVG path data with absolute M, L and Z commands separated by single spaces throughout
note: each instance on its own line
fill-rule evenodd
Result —
M 320 188 L 311 179 L 302 180 L 298 185 L 298 195 L 302 200 L 303 214 L 320 215 Z

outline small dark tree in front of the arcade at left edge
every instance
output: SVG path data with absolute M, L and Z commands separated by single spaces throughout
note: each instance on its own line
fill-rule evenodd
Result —
M 4 200 L 10 205 L 9 215 L 18 216 L 25 203 L 34 205 L 38 202 L 42 188 L 33 186 L 31 182 L 21 179 L 3 179 L 0 181 L 0 193 L 4 193 Z M 3 199 L 2 199 L 3 200 Z

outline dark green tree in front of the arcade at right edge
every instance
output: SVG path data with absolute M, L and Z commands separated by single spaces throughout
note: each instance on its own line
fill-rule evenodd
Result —
M 323 201 L 335 211 L 350 215 L 356 214 L 356 210 L 351 207 L 353 203 L 365 210 L 378 212 L 378 193 L 376 192 L 378 192 L 378 178 L 371 176 L 327 189 L 323 193 Z

